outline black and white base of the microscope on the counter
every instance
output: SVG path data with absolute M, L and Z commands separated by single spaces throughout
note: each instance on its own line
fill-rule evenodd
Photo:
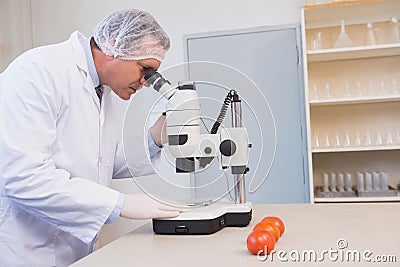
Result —
M 207 235 L 224 227 L 245 227 L 252 218 L 251 203 L 214 203 L 181 213 L 176 218 L 153 219 L 157 234 Z

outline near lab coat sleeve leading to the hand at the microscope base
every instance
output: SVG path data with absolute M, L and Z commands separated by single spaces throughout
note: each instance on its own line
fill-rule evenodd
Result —
M 51 148 L 60 111 L 43 72 L 32 74 L 35 82 L 0 76 L 0 189 L 22 209 L 89 243 L 119 193 L 55 166 Z

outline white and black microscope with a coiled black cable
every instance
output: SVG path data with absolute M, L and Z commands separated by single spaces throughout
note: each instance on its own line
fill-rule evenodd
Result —
M 244 175 L 248 172 L 247 132 L 242 126 L 241 100 L 230 90 L 211 131 L 200 133 L 201 112 L 195 82 L 172 86 L 162 75 L 149 70 L 145 80 L 167 99 L 166 132 L 168 149 L 175 158 L 177 173 L 195 171 L 195 160 L 201 168 L 214 158 L 222 169 L 230 167 L 234 176 L 234 202 L 216 201 L 181 213 L 176 218 L 153 219 L 158 234 L 212 234 L 224 227 L 244 227 L 252 219 L 251 203 L 246 202 Z M 231 106 L 232 128 L 219 126 Z

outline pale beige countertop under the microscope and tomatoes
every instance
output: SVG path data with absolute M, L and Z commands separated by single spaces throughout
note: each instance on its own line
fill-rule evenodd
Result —
M 247 235 L 265 216 L 279 216 L 285 222 L 286 231 L 275 247 L 281 259 L 274 254 L 272 261 L 261 261 L 247 251 Z M 338 248 L 339 239 L 347 248 Z M 400 203 L 253 205 L 248 227 L 228 227 L 211 235 L 157 235 L 148 223 L 72 266 L 313 266 L 317 263 L 309 259 L 294 261 L 296 253 L 302 257 L 311 250 L 318 258 L 325 257 L 318 266 L 399 266 Z M 328 252 L 323 254 L 324 250 Z M 360 252 L 359 263 L 353 262 L 352 251 Z M 366 262 L 364 252 L 371 260 L 392 255 L 397 262 Z

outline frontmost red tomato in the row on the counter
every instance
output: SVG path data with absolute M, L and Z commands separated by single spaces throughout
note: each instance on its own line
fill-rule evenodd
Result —
M 247 249 L 254 255 L 268 255 L 275 248 L 275 238 L 265 230 L 256 230 L 247 237 Z

